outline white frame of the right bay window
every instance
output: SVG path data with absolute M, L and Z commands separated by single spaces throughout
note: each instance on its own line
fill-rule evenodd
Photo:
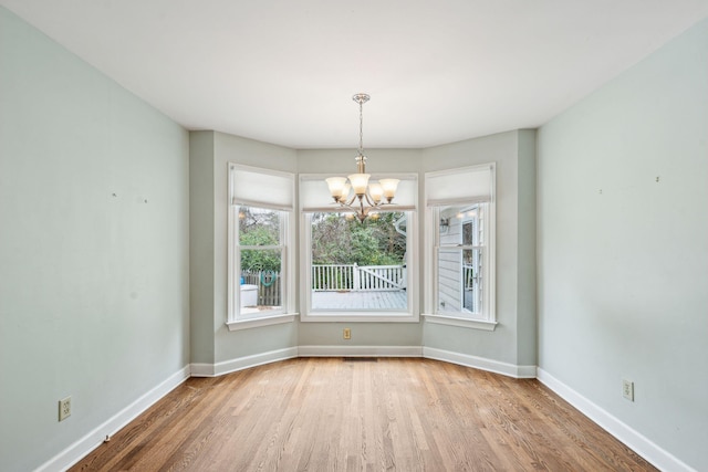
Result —
M 470 196 L 466 197 L 462 190 L 462 195 L 456 195 L 451 198 L 430 202 L 428 199 L 428 185 L 429 180 L 438 179 L 438 181 L 445 181 L 449 176 L 450 185 L 454 185 L 454 180 L 465 174 L 488 171 L 490 175 L 489 195 L 483 199 L 478 199 L 470 191 Z M 497 227 L 497 211 L 496 211 L 496 165 L 494 162 L 485 164 L 480 166 L 471 166 L 466 168 L 447 169 L 442 171 L 426 172 L 426 231 L 425 231 L 425 264 L 428 276 L 425 277 L 425 319 L 426 323 L 445 324 L 451 326 L 461 326 L 467 328 L 493 331 L 497 326 L 497 313 L 496 313 L 496 227 Z M 445 206 L 472 206 L 475 203 L 486 202 L 486 211 L 483 219 L 480 219 L 480 224 L 483 224 L 485 240 L 482 248 L 482 310 L 480 313 L 471 313 L 464 308 L 459 312 L 440 312 L 439 296 L 438 296 L 438 251 L 440 248 L 440 208 Z M 450 247 L 448 247 L 450 248 Z M 464 247 L 460 244 L 460 256 L 462 249 L 475 249 L 477 247 Z

